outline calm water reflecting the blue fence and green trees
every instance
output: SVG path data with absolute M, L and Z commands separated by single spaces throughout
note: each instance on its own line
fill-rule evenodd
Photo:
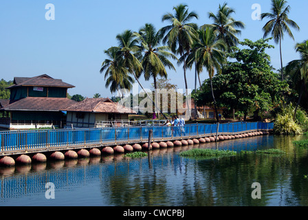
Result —
M 219 148 L 281 148 L 286 155 L 187 159 L 175 147 L 151 156 L 123 155 L 0 168 L 0 206 L 308 206 L 308 154 L 292 145 L 304 136 L 257 136 Z M 193 148 L 215 148 L 214 143 Z M 55 186 L 46 199 L 45 184 Z M 261 199 L 252 199 L 252 183 Z

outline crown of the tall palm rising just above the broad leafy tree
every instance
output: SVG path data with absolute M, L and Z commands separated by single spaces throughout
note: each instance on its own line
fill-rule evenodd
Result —
M 239 39 L 236 35 L 241 34 L 241 30 L 236 28 L 245 28 L 245 24 L 242 21 L 236 21 L 231 15 L 235 13 L 235 10 L 229 8 L 227 3 L 223 5 L 219 4 L 219 9 L 217 14 L 213 12 L 208 13 L 208 17 L 213 20 L 213 23 L 208 25 L 203 25 L 201 28 L 206 28 L 208 26 L 214 28 L 217 32 L 217 38 L 225 41 L 225 44 L 228 47 L 228 51 L 231 50 L 231 47 L 239 43 Z

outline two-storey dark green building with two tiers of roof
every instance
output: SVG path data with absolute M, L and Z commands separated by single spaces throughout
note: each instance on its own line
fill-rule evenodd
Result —
M 66 115 L 62 109 L 75 104 L 67 98 L 64 83 L 46 74 L 35 77 L 14 77 L 10 100 L 0 100 L 0 127 L 3 129 L 36 129 L 63 127 Z

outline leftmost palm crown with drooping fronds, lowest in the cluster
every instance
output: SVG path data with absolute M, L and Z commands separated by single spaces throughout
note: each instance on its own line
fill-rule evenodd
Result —
M 120 95 L 120 89 L 131 89 L 133 78 L 129 76 L 128 70 L 124 67 L 124 60 L 119 54 L 119 47 L 110 47 L 108 50 L 104 50 L 104 54 L 108 58 L 102 63 L 100 73 L 105 71 L 104 79 L 106 80 L 106 88 L 110 86 L 110 91 L 118 91 Z M 124 94 L 122 93 L 122 98 Z

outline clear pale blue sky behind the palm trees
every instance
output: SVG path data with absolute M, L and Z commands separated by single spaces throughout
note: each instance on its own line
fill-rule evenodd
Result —
M 138 31 L 145 23 L 153 23 L 157 30 L 168 25 L 162 22 L 166 12 L 173 12 L 179 3 L 188 5 L 190 11 L 199 15 L 192 22 L 198 25 L 212 23 L 208 12 L 217 12 L 219 3 L 214 0 L 0 0 L 0 79 L 12 80 L 14 76 L 38 76 L 48 74 L 75 85 L 69 94 L 81 94 L 92 98 L 98 93 L 110 97 L 104 75 L 99 70 L 106 56 L 104 50 L 117 45 L 115 36 L 124 30 Z M 236 10 L 232 17 L 246 25 L 239 39 L 256 41 L 263 37 L 262 27 L 266 21 L 252 19 L 252 5 L 261 6 L 261 12 L 270 12 L 269 0 L 229 0 Z M 54 20 L 47 20 L 45 5 L 54 5 Z M 289 19 L 300 26 L 300 32 L 292 29 L 295 41 L 285 36 L 283 40 L 283 63 L 298 58 L 294 45 L 308 39 L 308 1 L 288 1 L 291 6 Z M 279 47 L 268 50 L 272 65 L 280 68 Z M 167 69 L 171 83 L 185 89 L 181 66 L 177 72 Z M 188 87 L 194 89 L 194 70 L 187 72 Z M 201 73 L 201 80 L 208 78 Z M 151 87 L 152 81 L 142 85 Z M 141 88 L 139 88 L 141 90 Z

